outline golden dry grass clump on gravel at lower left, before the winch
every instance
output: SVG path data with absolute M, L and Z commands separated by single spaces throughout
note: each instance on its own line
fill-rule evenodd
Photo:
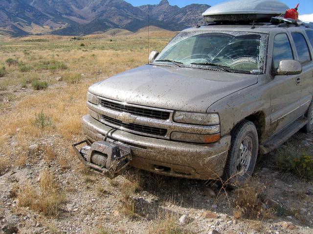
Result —
M 54 175 L 44 170 L 40 175 L 39 187 L 40 191 L 29 184 L 20 186 L 17 196 L 18 206 L 29 207 L 46 216 L 59 216 L 65 195 L 59 190 Z

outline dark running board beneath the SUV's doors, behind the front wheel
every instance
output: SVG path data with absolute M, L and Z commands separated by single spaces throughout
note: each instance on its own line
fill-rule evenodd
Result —
M 292 135 L 298 132 L 304 125 L 306 125 L 308 119 L 302 117 L 295 120 L 290 126 L 285 128 L 283 131 L 275 134 L 273 137 L 270 137 L 263 145 L 260 145 L 260 153 L 268 154 L 272 150 L 276 149 L 278 146 L 282 145 L 287 141 Z

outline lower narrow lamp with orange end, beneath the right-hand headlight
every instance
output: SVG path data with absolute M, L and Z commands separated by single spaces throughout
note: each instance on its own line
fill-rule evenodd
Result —
M 192 142 L 192 143 L 212 143 L 220 139 L 220 134 L 196 134 L 196 133 L 171 133 L 172 140 Z

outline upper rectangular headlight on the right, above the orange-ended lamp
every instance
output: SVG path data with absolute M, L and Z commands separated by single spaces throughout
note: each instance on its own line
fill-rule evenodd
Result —
M 190 123 L 197 125 L 217 125 L 220 124 L 220 117 L 217 113 L 193 113 L 174 112 L 174 121 L 179 123 Z

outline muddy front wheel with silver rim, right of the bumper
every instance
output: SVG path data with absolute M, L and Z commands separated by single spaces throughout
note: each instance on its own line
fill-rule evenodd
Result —
M 228 187 L 241 187 L 252 175 L 258 156 L 259 140 L 255 125 L 248 120 L 239 123 L 231 134 L 231 145 L 224 170 Z

